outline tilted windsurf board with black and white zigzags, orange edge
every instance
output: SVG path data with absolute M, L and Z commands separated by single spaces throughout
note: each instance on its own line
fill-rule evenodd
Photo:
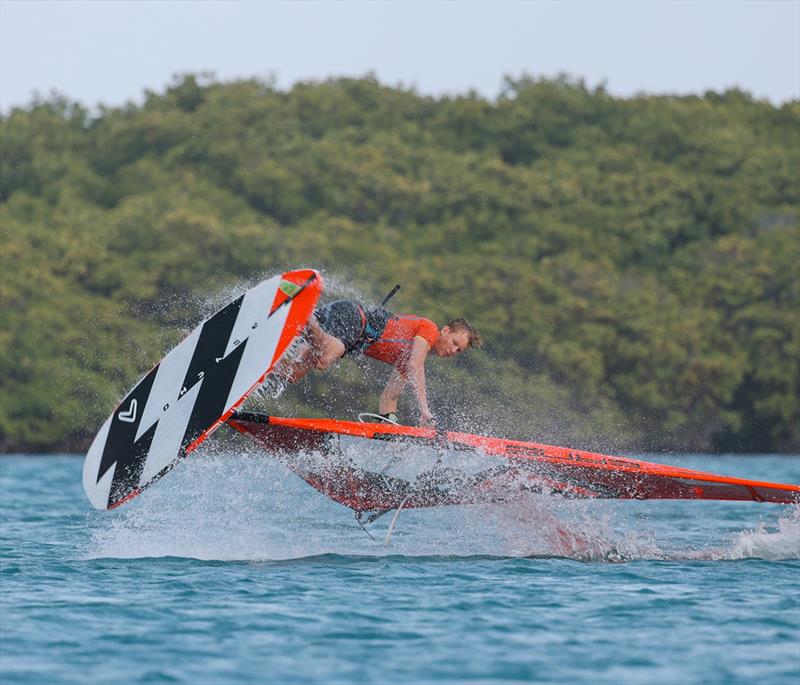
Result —
M 133 498 L 193 451 L 272 371 L 311 316 L 323 280 L 291 271 L 203 321 L 106 419 L 83 467 L 97 509 Z

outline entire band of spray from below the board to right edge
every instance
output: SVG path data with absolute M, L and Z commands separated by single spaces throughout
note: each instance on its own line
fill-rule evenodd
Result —
M 392 516 L 368 526 L 370 538 L 352 511 L 232 431 L 222 438 L 215 437 L 126 507 L 94 518 L 87 556 L 220 561 L 328 554 L 491 556 L 601 563 L 800 558 L 798 510 L 774 525 L 740 529 L 731 537 L 724 532 L 732 521 L 724 505 L 704 507 L 701 515 L 686 502 L 570 500 L 535 493 L 502 504 L 403 510 L 385 544 Z M 682 539 L 679 529 L 699 544 Z M 722 544 L 711 546 L 720 539 Z

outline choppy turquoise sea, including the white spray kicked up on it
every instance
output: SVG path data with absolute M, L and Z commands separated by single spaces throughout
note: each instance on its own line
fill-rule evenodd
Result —
M 663 461 L 800 483 L 798 457 Z M 387 544 L 391 516 L 371 539 L 252 451 L 113 512 L 81 468 L 0 458 L 3 685 L 800 682 L 793 506 L 531 496 L 403 511 Z

